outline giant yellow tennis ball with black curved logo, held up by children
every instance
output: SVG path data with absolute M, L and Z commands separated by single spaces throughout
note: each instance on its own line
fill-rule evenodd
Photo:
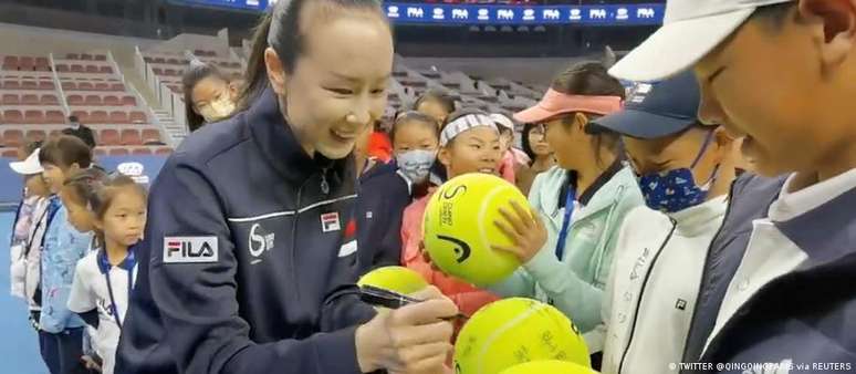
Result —
M 478 285 L 494 284 L 520 267 L 511 253 L 491 245 L 511 246 L 493 224 L 511 201 L 529 209 L 529 201 L 512 184 L 489 174 L 466 174 L 445 183 L 425 210 L 425 249 L 445 273 Z M 512 211 L 513 214 L 513 211 Z

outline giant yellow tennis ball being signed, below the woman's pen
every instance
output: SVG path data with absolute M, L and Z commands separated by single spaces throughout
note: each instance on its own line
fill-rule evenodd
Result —
M 591 367 L 588 347 L 571 320 L 531 299 L 504 299 L 483 307 L 467 321 L 455 343 L 458 374 L 499 374 L 543 360 Z

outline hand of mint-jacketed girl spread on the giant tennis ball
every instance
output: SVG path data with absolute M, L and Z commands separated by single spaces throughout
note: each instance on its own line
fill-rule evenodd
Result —
M 544 221 L 537 212 L 530 208 L 529 211 L 518 202 L 511 201 L 511 209 L 500 208 L 502 220 L 494 220 L 493 225 L 511 239 L 512 245 L 491 246 L 493 250 L 514 254 L 521 263 L 532 260 L 544 247 L 547 239 Z

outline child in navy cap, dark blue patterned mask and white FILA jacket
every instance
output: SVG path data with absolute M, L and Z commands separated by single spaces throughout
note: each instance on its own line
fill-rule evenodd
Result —
M 698 103 L 688 72 L 637 84 L 623 112 L 595 120 L 622 134 L 647 205 L 627 215 L 618 235 L 602 373 L 666 373 L 683 354 L 704 257 L 735 175 L 732 139 L 699 124 Z

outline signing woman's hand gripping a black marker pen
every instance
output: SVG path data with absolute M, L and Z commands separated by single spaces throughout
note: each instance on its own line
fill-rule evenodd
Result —
M 430 285 L 413 297 L 426 301 L 378 313 L 357 328 L 357 362 L 363 373 L 382 368 L 390 374 L 446 372 L 452 324 L 443 319 L 457 315 L 458 307 Z

